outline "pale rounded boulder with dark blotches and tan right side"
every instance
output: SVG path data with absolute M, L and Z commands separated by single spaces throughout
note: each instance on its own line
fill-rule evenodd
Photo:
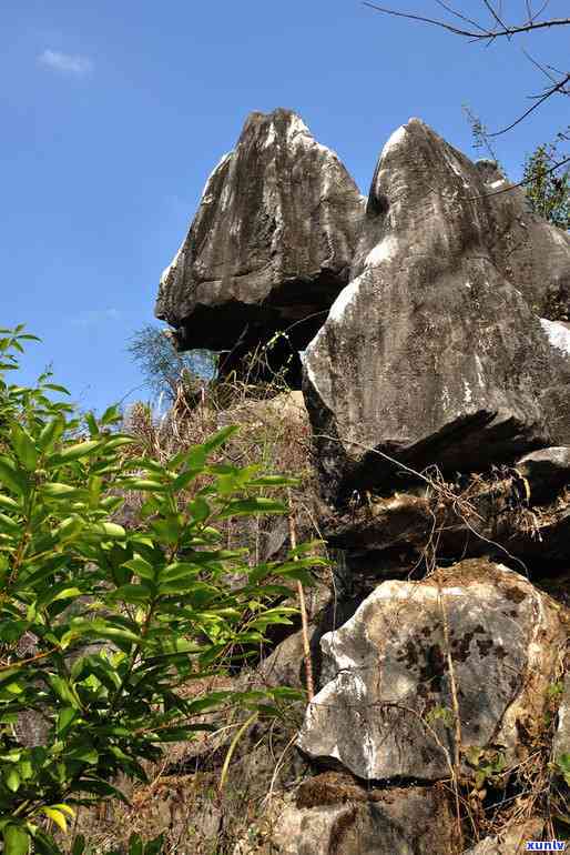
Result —
M 561 606 L 486 560 L 384 582 L 323 637 L 330 680 L 298 745 L 363 779 L 446 778 L 456 728 L 438 711 L 452 711 L 455 680 L 464 747 L 501 746 L 507 763 L 520 761 L 525 734 L 546 726 L 566 637 Z

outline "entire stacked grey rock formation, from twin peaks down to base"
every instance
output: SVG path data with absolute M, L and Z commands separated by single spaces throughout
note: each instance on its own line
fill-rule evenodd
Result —
M 522 852 L 554 836 L 569 306 L 568 234 L 417 119 L 384 147 L 366 204 L 283 110 L 254 113 L 212 174 L 156 313 L 180 346 L 234 366 L 285 328 L 305 350 L 312 513 L 335 556 L 297 753 L 264 767 L 271 798 L 233 855 Z M 298 684 L 302 658 L 293 635 L 256 678 Z

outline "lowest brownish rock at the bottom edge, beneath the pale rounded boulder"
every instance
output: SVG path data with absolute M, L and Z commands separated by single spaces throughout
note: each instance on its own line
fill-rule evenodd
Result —
M 454 818 L 444 788 L 365 789 L 334 773 L 276 805 L 262 845 L 233 855 L 452 855 Z

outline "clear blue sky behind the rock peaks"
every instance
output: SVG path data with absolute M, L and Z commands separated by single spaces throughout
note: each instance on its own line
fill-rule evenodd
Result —
M 551 0 L 551 17 L 564 10 Z M 568 30 L 484 47 L 358 0 L 3 0 L 0 20 L 0 325 L 24 322 L 43 340 L 26 381 L 53 363 L 98 410 L 141 384 L 128 340 L 153 320 L 161 271 L 251 110 L 299 112 L 366 192 L 410 115 L 474 155 L 461 104 L 501 127 L 543 86 L 520 48 L 553 64 L 568 54 Z M 568 124 L 566 107 L 551 99 L 501 139 L 512 177 Z

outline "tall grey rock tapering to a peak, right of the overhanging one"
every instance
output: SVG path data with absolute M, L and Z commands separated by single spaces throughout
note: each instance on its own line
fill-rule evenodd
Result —
M 325 496 L 549 443 L 568 360 L 499 265 L 481 172 L 417 119 L 384 147 L 352 281 L 305 352 Z

